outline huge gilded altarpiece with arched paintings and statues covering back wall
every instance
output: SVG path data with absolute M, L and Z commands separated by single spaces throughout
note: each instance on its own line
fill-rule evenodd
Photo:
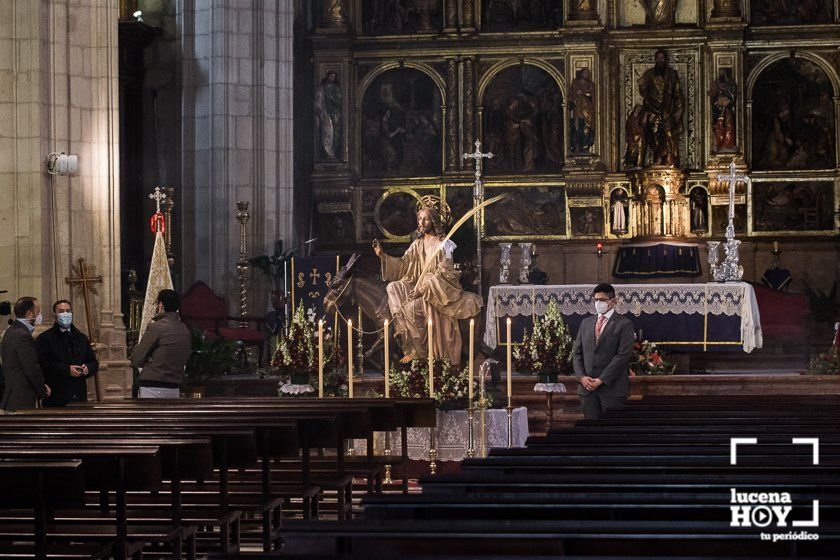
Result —
M 492 243 L 720 238 L 730 162 L 739 236 L 836 235 L 836 3 L 338 2 L 313 29 L 318 231 L 405 243 L 428 194 L 463 215 L 478 139 L 509 195 Z

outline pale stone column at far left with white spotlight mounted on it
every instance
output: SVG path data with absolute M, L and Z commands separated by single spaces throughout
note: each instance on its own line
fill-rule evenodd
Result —
M 0 20 L 0 286 L 9 299 L 68 298 L 75 322 L 102 343 L 106 397 L 131 387 L 120 311 L 117 22 L 98 0 L 14 2 Z M 49 152 L 79 157 L 73 175 L 49 175 Z M 3 157 L 8 159 L 2 159 Z M 84 258 L 102 275 L 93 324 L 64 279 Z

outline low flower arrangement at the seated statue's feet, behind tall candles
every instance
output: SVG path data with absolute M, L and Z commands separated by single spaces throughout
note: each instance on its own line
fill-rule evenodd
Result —
M 476 372 L 477 373 L 477 372 Z M 460 370 L 448 359 L 434 363 L 435 403 L 442 410 L 467 408 L 469 400 L 469 373 Z M 422 399 L 429 396 L 429 363 L 426 360 L 412 360 L 402 369 L 391 369 L 391 395 L 404 399 Z M 473 379 L 474 396 L 478 398 L 478 375 Z M 490 395 L 485 394 L 487 405 Z

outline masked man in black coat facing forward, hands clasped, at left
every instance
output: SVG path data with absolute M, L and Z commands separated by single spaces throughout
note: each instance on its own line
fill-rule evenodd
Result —
M 87 401 L 87 380 L 99 371 L 90 340 L 73 325 L 73 308 L 66 299 L 53 304 L 55 324 L 35 341 L 38 360 L 52 394 L 44 406 Z

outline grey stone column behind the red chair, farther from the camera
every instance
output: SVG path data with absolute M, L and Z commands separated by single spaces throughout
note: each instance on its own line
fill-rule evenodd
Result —
M 204 280 L 233 311 L 236 201 L 251 203 L 248 246 L 255 254 L 277 239 L 287 247 L 294 242 L 293 8 L 261 0 L 183 0 L 178 9 L 183 284 Z

